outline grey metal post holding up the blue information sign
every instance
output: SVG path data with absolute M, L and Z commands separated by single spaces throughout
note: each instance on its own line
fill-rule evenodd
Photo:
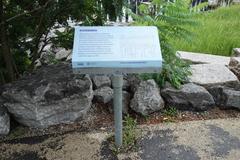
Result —
M 122 146 L 122 86 L 123 76 L 121 74 L 113 75 L 113 104 L 114 104 L 114 123 L 115 123 L 115 144 Z

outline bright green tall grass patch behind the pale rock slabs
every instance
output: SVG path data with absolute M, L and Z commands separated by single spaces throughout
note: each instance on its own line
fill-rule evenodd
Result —
M 240 47 L 240 5 L 202 12 L 194 18 L 201 25 L 188 26 L 194 33 L 192 42 L 171 39 L 177 50 L 230 56 L 233 48 Z

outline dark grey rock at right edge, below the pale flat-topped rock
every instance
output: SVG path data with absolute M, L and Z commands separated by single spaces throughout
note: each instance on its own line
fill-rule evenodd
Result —
M 224 86 L 213 86 L 208 89 L 216 104 L 221 108 L 240 109 L 240 89 Z

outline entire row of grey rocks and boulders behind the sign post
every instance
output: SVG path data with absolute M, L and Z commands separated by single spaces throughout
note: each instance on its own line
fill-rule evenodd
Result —
M 66 51 L 64 59 L 69 54 Z M 240 109 L 236 58 L 218 56 L 217 59 L 224 62 L 221 64 L 214 56 L 204 58 L 205 55 L 200 54 L 194 59 L 194 54 L 188 57 L 186 52 L 179 53 L 195 63 L 191 65 L 190 81 L 180 89 L 170 85 L 160 89 L 154 80 L 143 81 L 136 75 L 124 75 L 123 113 L 132 110 L 149 115 L 168 106 L 181 110 L 207 110 L 216 106 Z M 43 56 L 41 63 L 45 62 Z M 111 77 L 75 75 L 71 65 L 66 63 L 43 65 L 34 73 L 0 88 L 0 135 L 10 130 L 8 113 L 25 126 L 46 128 L 83 119 L 92 103 L 102 103 L 113 111 Z

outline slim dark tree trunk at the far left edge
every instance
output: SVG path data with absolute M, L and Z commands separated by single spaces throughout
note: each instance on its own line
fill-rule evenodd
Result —
M 4 23 L 4 10 L 3 10 L 3 0 L 0 0 L 0 40 L 1 40 L 1 54 L 3 56 L 5 66 L 7 69 L 7 75 L 8 79 L 10 81 L 14 81 L 16 76 L 14 73 L 14 63 L 13 63 L 13 57 L 10 52 L 10 48 L 8 45 L 8 40 L 7 40 L 7 30 L 6 30 L 6 24 Z

